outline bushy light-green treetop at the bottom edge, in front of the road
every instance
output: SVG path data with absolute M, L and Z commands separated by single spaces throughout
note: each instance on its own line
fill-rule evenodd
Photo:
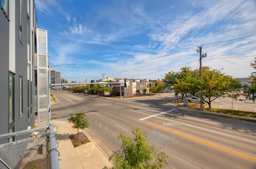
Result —
M 148 136 L 140 128 L 132 128 L 134 139 L 121 134 L 121 150 L 110 156 L 113 161 L 111 169 L 161 169 L 168 164 L 166 153 L 154 154 L 155 145 L 148 143 Z M 107 167 L 104 167 L 107 169 Z

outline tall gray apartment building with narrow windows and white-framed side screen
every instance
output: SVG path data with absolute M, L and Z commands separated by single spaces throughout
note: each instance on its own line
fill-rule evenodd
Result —
M 46 124 L 47 31 L 38 29 L 34 0 L 0 2 L 0 133 L 6 134 L 33 128 L 36 112 Z

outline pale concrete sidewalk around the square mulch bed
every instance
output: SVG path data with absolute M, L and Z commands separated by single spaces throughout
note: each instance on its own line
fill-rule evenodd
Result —
M 65 121 L 52 120 L 52 124 L 58 127 L 56 136 L 58 151 L 60 152 L 60 169 L 102 169 L 104 166 L 112 167 L 108 157 L 95 145 L 93 140 L 84 132 L 91 141 L 76 148 L 72 145 L 69 135 L 76 134 L 77 129 Z

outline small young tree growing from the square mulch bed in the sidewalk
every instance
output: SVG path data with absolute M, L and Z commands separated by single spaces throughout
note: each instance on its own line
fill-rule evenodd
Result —
M 85 112 L 77 112 L 75 114 L 71 114 L 70 118 L 68 118 L 68 122 L 72 122 L 75 126 L 75 128 L 77 128 L 77 138 L 79 138 L 79 132 L 78 129 L 84 129 L 84 128 L 88 128 L 90 126 L 87 118 L 85 118 Z

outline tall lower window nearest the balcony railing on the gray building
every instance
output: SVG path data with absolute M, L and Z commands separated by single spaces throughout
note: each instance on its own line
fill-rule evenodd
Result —
M 14 124 L 14 75 L 9 74 L 9 124 Z

